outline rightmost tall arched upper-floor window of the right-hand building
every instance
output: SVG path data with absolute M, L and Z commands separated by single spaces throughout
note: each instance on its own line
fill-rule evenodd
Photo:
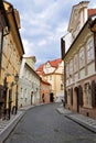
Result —
M 94 43 L 93 40 L 89 40 L 87 43 L 87 63 L 94 59 Z

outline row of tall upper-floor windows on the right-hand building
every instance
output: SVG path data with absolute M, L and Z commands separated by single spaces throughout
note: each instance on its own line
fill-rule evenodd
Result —
M 86 46 L 86 47 L 85 47 Z M 85 64 L 89 64 L 94 61 L 94 40 L 90 37 L 86 45 L 82 46 L 79 52 L 74 55 L 74 58 L 66 64 L 66 77 L 70 77 L 73 73 L 82 69 Z

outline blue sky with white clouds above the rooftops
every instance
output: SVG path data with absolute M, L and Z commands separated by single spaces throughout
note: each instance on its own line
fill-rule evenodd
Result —
M 61 57 L 61 37 L 67 33 L 72 7 L 83 0 L 7 0 L 20 13 L 20 34 L 25 56 L 35 66 Z M 88 8 L 96 8 L 90 0 Z

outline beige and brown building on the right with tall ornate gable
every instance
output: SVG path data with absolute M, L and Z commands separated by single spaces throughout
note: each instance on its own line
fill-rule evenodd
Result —
M 67 109 L 96 119 L 96 34 L 89 29 L 89 19 L 96 15 L 96 9 L 87 6 L 86 1 L 79 2 L 71 14 L 72 44 L 63 54 L 65 102 Z

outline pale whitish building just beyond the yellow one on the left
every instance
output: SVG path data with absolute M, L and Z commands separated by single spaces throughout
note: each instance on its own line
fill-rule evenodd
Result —
M 35 73 L 35 56 L 23 57 L 19 81 L 19 107 L 40 103 L 40 76 Z

